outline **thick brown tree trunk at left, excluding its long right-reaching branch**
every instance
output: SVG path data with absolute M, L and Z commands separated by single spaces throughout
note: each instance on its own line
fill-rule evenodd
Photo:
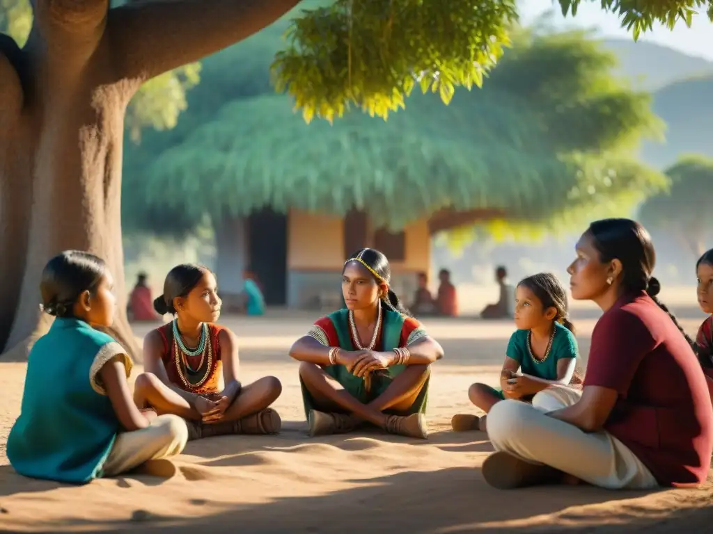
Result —
M 138 82 L 111 83 L 108 46 L 97 31 L 102 19 L 100 13 L 98 23 L 76 22 L 82 42 L 63 36 L 62 47 L 49 39 L 58 23 L 44 18 L 14 56 L 20 90 L 0 80 L 0 246 L 7 260 L 0 262 L 0 345 L 8 359 L 24 359 L 51 324 L 39 310 L 41 272 L 49 258 L 72 248 L 106 260 L 118 297 L 110 333 L 138 356 L 125 313 L 120 219 L 123 117 Z M 10 97 L 20 98 L 19 115 L 9 112 Z

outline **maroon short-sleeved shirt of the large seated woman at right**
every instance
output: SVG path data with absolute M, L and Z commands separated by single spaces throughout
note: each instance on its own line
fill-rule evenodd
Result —
M 697 357 L 645 293 L 625 295 L 592 334 L 585 387 L 615 389 L 605 430 L 662 486 L 703 483 L 713 452 L 713 406 Z

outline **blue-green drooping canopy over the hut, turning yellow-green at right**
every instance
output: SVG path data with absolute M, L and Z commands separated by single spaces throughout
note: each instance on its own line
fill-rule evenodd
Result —
M 193 93 L 211 91 L 215 80 L 216 93 L 227 95 L 226 71 L 250 78 L 230 60 L 257 61 L 253 46 L 267 56 L 261 36 L 207 60 Z M 307 125 L 272 92 L 247 90 L 211 111 L 213 98 L 198 104 L 200 113 L 191 102 L 187 125 L 128 147 L 126 187 L 140 188 L 131 197 L 152 214 L 182 214 L 184 228 L 264 206 L 337 216 L 357 207 L 393 229 L 446 207 L 561 226 L 665 187 L 664 177 L 625 156 L 661 125 L 648 96 L 611 75 L 614 64 L 586 33 L 522 31 L 482 89 L 456 94 L 448 107 L 430 93 L 411 95 L 386 122 L 350 112 L 333 125 Z M 124 219 L 135 222 L 147 209 L 125 206 Z

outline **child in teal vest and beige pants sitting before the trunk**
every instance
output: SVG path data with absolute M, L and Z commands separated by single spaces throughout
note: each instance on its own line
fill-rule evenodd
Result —
M 40 291 L 55 320 L 29 355 L 20 417 L 7 441 L 15 470 L 86 483 L 180 454 L 188 439 L 183 419 L 139 411 L 127 382 L 130 357 L 95 330 L 111 326 L 116 308 L 104 261 L 65 251 L 47 263 Z M 165 464 L 153 466 L 165 472 Z

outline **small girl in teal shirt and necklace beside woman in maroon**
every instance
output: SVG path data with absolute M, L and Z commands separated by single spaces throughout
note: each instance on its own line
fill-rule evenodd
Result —
M 501 372 L 501 388 L 473 384 L 471 402 L 486 414 L 503 399 L 530 401 L 553 384 L 581 384 L 576 371 L 579 350 L 568 320 L 567 293 L 551 273 L 524 278 L 515 291 L 515 325 Z M 486 430 L 486 417 L 457 414 L 453 430 Z

